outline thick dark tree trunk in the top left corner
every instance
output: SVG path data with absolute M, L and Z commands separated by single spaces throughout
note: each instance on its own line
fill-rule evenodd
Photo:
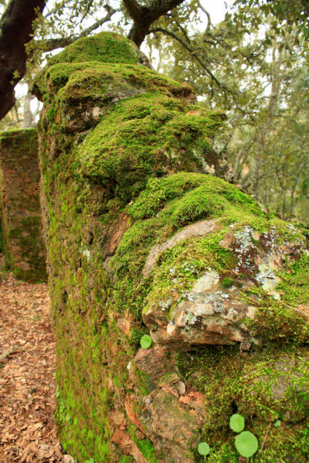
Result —
M 10 0 L 0 19 L 0 119 L 14 106 L 16 83 L 26 72 L 25 43 L 46 0 Z

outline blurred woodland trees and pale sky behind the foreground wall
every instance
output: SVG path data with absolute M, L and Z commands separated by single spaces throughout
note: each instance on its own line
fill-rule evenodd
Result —
M 6 11 L 12 4 L 18 1 Z M 236 0 L 216 25 L 206 6 L 205 0 L 49 1 L 44 14 L 36 10 L 24 83 L 29 88 L 56 48 L 102 28 L 144 42 L 158 71 L 191 83 L 207 107 L 226 111 L 235 182 L 283 217 L 307 220 L 308 4 Z M 15 74 L 11 88 L 21 76 Z M 37 112 L 26 91 L 1 126 L 32 126 Z

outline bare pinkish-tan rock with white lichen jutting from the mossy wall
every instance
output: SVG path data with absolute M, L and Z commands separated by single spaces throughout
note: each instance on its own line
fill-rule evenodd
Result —
M 218 222 L 217 222 L 218 223 Z M 196 222 L 178 231 L 171 239 L 160 246 L 153 246 L 146 266 L 155 264 L 156 257 L 166 249 L 190 236 L 210 233 L 216 222 L 213 220 Z M 151 330 L 151 338 L 172 349 L 187 349 L 194 345 L 228 345 L 235 342 L 259 343 L 254 331 L 242 323 L 254 318 L 258 297 L 251 303 L 244 298 L 244 291 L 260 286 L 280 300 L 275 288 L 280 283 L 278 274 L 290 256 L 300 254 L 300 246 L 305 241 L 280 243 L 275 229 L 259 234 L 250 227 L 233 231 L 235 225 L 228 227 L 227 233 L 219 242 L 223 249 L 231 251 L 233 265 L 228 278 L 213 269 L 207 269 L 185 291 L 171 291 L 171 297 L 158 298 L 144 309 L 143 321 Z M 218 229 L 218 224 L 217 224 Z M 185 264 L 188 266 L 188 262 Z M 145 268 L 143 274 L 145 274 Z M 150 272 L 150 270 L 149 270 Z M 173 276 L 173 266 L 169 269 Z M 172 285 L 171 285 L 172 286 Z M 255 299 L 255 301 L 254 301 Z

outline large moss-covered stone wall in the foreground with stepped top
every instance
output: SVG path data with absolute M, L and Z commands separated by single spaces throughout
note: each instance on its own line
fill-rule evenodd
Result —
M 307 461 L 308 243 L 228 183 L 225 116 L 113 33 L 52 58 L 34 92 L 64 449 L 191 463 L 203 440 L 238 462 L 239 410 L 268 432 L 254 461 Z

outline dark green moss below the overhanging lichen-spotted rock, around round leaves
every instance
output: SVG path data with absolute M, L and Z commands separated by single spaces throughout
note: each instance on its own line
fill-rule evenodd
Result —
M 305 462 L 308 457 L 308 348 L 271 345 L 240 355 L 235 347 L 209 347 L 178 354 L 178 368 L 187 383 L 206 397 L 206 420 L 202 439 L 211 444 L 211 462 L 237 462 L 234 433 L 229 417 L 238 412 L 245 417 L 245 429 L 268 439 L 256 462 Z M 278 390 L 280 386 L 280 393 Z M 306 411 L 307 410 L 307 411 Z M 280 417 L 282 425 L 274 427 Z M 294 424 L 291 425 L 290 423 Z M 287 432 L 288 430 L 288 432 Z

